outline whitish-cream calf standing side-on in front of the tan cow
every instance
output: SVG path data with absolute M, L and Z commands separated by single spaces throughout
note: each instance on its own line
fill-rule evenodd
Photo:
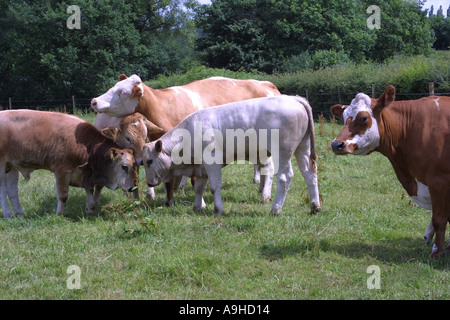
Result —
M 146 181 L 156 186 L 174 176 L 195 175 L 194 210 L 199 210 L 209 179 L 214 211 L 221 215 L 222 167 L 253 157 L 262 169 L 273 165 L 277 188 L 271 211 L 279 214 L 293 178 L 291 158 L 295 155 L 309 190 L 311 212 L 317 213 L 320 199 L 314 141 L 311 107 L 301 97 L 281 95 L 211 107 L 196 111 L 158 140 L 145 144 Z M 273 163 L 267 161 L 269 155 Z M 261 178 L 270 190 L 272 176 Z

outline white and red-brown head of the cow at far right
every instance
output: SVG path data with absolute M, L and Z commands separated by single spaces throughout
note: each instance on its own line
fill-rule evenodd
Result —
M 334 105 L 331 113 L 344 120 L 344 128 L 331 143 L 337 155 L 366 155 L 380 145 L 379 114 L 395 100 L 395 88 L 389 86 L 377 99 L 358 93 L 349 106 Z

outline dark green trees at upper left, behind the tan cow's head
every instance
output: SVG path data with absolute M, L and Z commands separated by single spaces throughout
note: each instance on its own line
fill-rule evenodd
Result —
M 80 8 L 80 29 L 66 26 L 70 5 Z M 146 78 L 176 71 L 192 54 L 179 48 L 193 42 L 179 31 L 186 35 L 190 29 L 183 24 L 188 13 L 178 5 L 178 0 L 2 1 L 0 72 L 7 77 L 0 82 L 0 100 L 93 97 L 120 73 L 139 69 Z

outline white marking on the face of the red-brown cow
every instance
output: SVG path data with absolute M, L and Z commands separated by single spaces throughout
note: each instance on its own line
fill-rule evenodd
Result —
M 353 152 L 355 155 L 366 155 L 380 145 L 380 133 L 378 131 L 377 120 L 373 117 L 370 97 L 364 93 L 358 93 L 352 103 L 343 113 L 344 123 L 348 118 L 356 120 L 359 112 L 366 111 L 372 118 L 372 126 L 366 130 L 363 135 L 355 135 L 352 139 L 346 141 L 347 145 L 357 145 L 358 148 Z

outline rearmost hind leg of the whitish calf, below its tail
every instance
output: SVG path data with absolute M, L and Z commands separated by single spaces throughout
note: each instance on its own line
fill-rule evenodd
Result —
M 316 214 L 320 211 L 320 194 L 316 168 L 313 168 L 310 160 L 309 140 L 304 145 L 300 144 L 294 154 L 298 168 L 308 187 L 311 213 Z

